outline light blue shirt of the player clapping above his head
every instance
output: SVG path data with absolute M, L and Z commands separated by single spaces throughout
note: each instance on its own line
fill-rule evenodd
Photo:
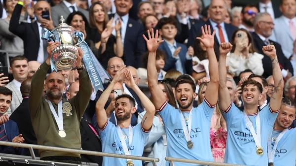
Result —
M 127 148 L 131 149 L 131 155 L 142 156 L 149 132 L 144 131 L 141 123 L 137 124 L 133 127 L 133 140 L 132 144 L 129 145 L 129 128 L 121 128 L 121 131 L 124 136 Z M 120 137 L 116 130 L 116 126 L 113 123 L 107 121 L 105 128 L 103 130 L 99 130 L 99 134 L 102 139 L 103 152 L 124 155 Z M 142 166 L 142 161 L 140 160 L 133 160 L 133 163 L 135 166 Z M 103 166 L 126 166 L 126 159 L 104 157 Z

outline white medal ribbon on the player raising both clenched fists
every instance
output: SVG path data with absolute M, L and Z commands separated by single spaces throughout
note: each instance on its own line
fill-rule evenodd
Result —
M 253 123 L 250 121 L 248 115 L 246 114 L 246 112 L 244 112 L 244 115 L 245 115 L 245 121 L 246 121 L 246 124 L 248 126 L 248 128 L 250 129 L 252 135 L 253 135 L 253 138 L 254 138 L 254 141 L 256 143 L 256 147 L 261 147 L 261 130 L 260 130 L 260 115 L 259 115 L 259 112 L 258 114 L 256 115 L 256 132 L 254 130 L 254 127 L 253 127 Z

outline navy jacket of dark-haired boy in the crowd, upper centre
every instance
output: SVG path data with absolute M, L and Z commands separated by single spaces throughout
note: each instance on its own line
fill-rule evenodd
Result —
M 182 67 L 183 67 L 185 73 L 191 74 L 192 73 L 192 60 L 186 60 L 187 47 L 184 44 L 177 42 L 177 48 L 178 47 L 182 47 L 181 51 L 179 53 L 179 58 L 181 60 Z M 165 71 L 168 71 L 170 69 L 176 69 L 177 59 L 173 58 L 173 55 L 168 47 L 168 44 L 166 42 L 161 43 L 159 46 L 159 49 L 166 53 L 165 66 L 163 69 Z

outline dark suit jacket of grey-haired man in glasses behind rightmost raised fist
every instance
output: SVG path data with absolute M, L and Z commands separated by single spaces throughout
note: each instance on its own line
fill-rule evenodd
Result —
M 264 68 L 264 72 L 262 76 L 268 77 L 269 75 L 272 75 L 272 64 L 270 58 L 265 55 L 262 51 L 262 47 L 265 45 L 263 40 L 259 37 L 259 35 L 255 32 L 252 33 L 253 40 L 254 40 L 254 46 L 258 50 L 258 52 L 262 55 L 264 55 L 262 59 L 262 64 Z M 289 69 L 289 71 L 293 74 L 293 66 L 291 65 L 291 62 L 285 57 L 282 47 L 279 43 L 269 40 L 271 44 L 275 46 L 277 58 L 280 64 L 281 69 Z

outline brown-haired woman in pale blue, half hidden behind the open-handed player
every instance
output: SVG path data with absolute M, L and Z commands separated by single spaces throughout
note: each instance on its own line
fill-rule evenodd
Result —
M 176 100 L 172 87 L 166 83 L 166 80 L 158 81 L 158 86 L 162 90 L 162 93 L 167 98 L 168 102 L 177 108 Z M 151 99 L 153 100 L 153 99 Z M 142 112 L 138 116 L 138 123 L 141 123 L 146 111 Z M 159 158 L 157 166 L 166 166 L 167 141 L 164 125 L 160 115 L 156 112 L 153 119 L 152 129 L 146 143 L 144 154 L 145 157 Z M 153 166 L 152 163 L 145 163 L 145 166 Z

